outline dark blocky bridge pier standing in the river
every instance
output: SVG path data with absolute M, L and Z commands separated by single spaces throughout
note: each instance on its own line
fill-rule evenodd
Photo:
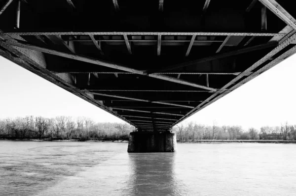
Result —
M 127 152 L 176 152 L 176 135 L 171 132 L 131 132 Z

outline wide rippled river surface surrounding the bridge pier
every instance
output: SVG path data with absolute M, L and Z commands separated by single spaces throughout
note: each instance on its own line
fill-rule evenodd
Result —
M 296 144 L 0 141 L 0 196 L 296 196 Z

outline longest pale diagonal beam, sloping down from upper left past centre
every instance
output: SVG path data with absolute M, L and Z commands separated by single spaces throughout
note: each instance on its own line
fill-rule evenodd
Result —
M 144 73 L 144 71 L 132 69 L 132 68 L 125 67 L 125 66 L 122 66 L 122 65 L 118 65 L 118 64 L 115 64 L 115 63 L 112 63 L 112 62 L 98 60 L 98 59 L 85 57 L 85 56 L 79 56 L 79 55 L 76 55 L 76 54 L 64 53 L 64 52 L 60 52 L 60 51 L 56 51 L 56 50 L 52 50 L 52 49 L 47 49 L 47 48 L 43 48 L 43 47 L 39 47 L 39 46 L 34 46 L 34 45 L 28 44 L 26 42 L 20 41 L 20 40 L 18 42 L 8 41 L 7 40 L 6 43 L 10 44 L 12 46 L 27 48 L 27 49 L 31 49 L 31 50 L 51 54 L 51 55 L 71 58 L 71 59 L 74 59 L 74 60 L 79 60 L 79 61 L 83 61 L 83 62 L 97 64 L 97 65 L 101 65 L 101 66 L 105 66 L 105 67 L 110 67 L 110 68 L 113 68 L 113 69 L 119 69 L 119 70 L 122 70 L 122 71 L 127 71 L 127 72 L 131 72 L 131 73 L 140 74 L 140 75 L 147 75 L 148 77 L 151 77 L 151 78 L 157 78 L 157 79 L 160 79 L 160 80 L 165 80 L 165 81 L 169 81 L 169 82 L 173 82 L 173 83 L 189 85 L 189 86 L 193 86 L 193 87 L 197 87 L 197 88 L 203 88 L 203 89 L 207 89 L 207 90 L 210 90 L 210 91 L 216 91 L 215 88 L 210 88 L 210 87 L 203 86 L 203 85 L 200 85 L 200 84 L 187 82 L 187 81 L 180 80 L 180 79 L 177 79 L 177 78 L 164 76 L 164 75 L 160 75 L 160 74 L 146 74 L 146 73 Z

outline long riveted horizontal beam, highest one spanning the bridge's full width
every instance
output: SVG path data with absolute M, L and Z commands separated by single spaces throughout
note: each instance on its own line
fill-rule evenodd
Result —
M 196 36 L 282 36 L 286 33 L 254 32 L 1 32 L 1 35 L 196 35 Z

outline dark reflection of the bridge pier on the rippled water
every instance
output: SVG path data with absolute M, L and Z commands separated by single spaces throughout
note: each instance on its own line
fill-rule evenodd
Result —
M 174 164 L 176 153 L 129 154 L 133 168 L 130 176 L 133 195 L 174 195 L 176 183 Z

